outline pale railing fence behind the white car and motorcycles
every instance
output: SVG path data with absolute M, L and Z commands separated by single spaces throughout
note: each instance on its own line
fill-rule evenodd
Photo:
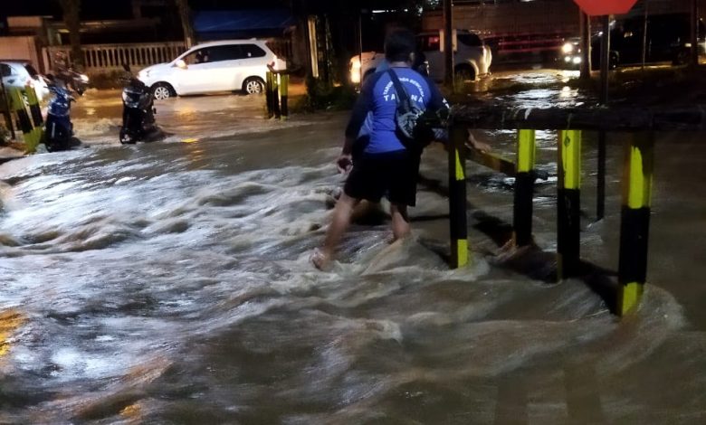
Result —
M 51 46 L 43 49 L 45 63 L 53 69 L 57 54 L 63 53 L 73 61 L 71 46 Z M 86 44 L 81 46 L 83 65 L 86 72 L 121 70 L 123 64 L 133 69 L 141 69 L 156 63 L 172 61 L 180 53 L 186 52 L 184 42 L 154 42 L 134 44 Z

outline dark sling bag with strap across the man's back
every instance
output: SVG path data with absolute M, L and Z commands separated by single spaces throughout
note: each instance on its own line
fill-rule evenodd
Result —
M 397 94 L 395 111 L 397 136 L 406 148 L 422 150 L 434 140 L 432 129 L 425 126 L 422 118 L 425 116 L 425 109 L 420 109 L 415 101 L 409 98 L 405 86 L 397 78 L 395 71 L 389 69 L 387 72 L 390 74 Z

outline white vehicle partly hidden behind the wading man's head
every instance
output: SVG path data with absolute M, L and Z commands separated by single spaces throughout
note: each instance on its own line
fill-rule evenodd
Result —
M 441 51 L 441 32 L 434 31 L 417 35 L 417 49 L 423 52 L 426 68 L 433 80 L 444 80 L 444 52 Z M 463 80 L 475 80 L 490 73 L 492 53 L 476 33 L 458 30 L 455 44 L 455 72 Z M 362 61 L 361 61 L 362 59 Z M 385 53 L 363 52 L 350 58 L 350 81 L 357 84 L 362 79 L 375 72 L 385 61 Z

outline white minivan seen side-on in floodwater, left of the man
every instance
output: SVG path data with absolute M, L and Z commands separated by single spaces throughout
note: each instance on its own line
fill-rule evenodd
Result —
M 264 92 L 267 65 L 275 70 L 284 62 L 260 40 L 229 40 L 199 44 L 169 63 L 138 73 L 155 99 L 215 91 Z

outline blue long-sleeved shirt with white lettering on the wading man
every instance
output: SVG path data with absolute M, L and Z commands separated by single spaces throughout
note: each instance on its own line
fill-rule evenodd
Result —
M 406 68 L 391 68 L 405 86 L 409 98 L 420 109 L 444 109 L 449 104 L 441 91 L 418 72 Z M 370 137 L 365 152 L 381 154 L 405 149 L 396 134 L 397 94 L 388 71 L 378 71 L 363 83 L 360 97 L 346 127 L 346 137 Z

